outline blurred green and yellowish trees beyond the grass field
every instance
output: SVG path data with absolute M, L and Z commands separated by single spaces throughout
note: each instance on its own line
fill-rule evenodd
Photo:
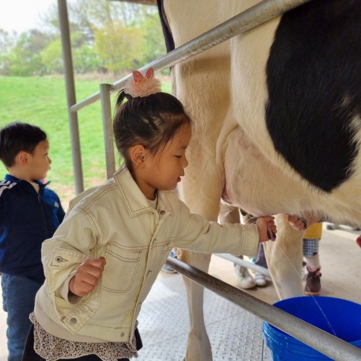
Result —
M 129 72 L 165 54 L 155 6 L 121 1 L 73 0 L 68 3 L 75 73 Z M 57 6 L 41 17 L 41 27 L 21 34 L 0 29 L 0 74 L 62 74 Z

